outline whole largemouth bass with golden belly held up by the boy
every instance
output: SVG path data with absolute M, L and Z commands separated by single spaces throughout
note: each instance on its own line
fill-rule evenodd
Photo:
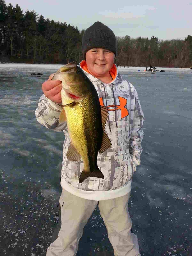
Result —
M 67 158 L 84 162 L 79 183 L 88 177 L 104 179 L 97 166 L 97 155 L 110 148 L 111 141 L 105 133 L 108 110 L 100 106 L 97 91 L 75 62 L 61 67 L 52 78 L 62 81 L 62 107 L 59 123 L 67 121 L 71 139 Z

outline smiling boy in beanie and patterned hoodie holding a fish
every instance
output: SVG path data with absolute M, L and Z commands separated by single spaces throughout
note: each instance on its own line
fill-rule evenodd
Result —
M 63 109 L 60 106 L 62 85 L 59 80 L 51 80 L 52 74 L 42 84 L 44 94 L 35 112 L 40 124 L 65 134 L 61 170 L 63 190 L 59 200 L 60 230 L 54 233 L 46 256 L 76 255 L 83 228 L 97 205 L 108 229 L 114 255 L 140 256 L 137 236 L 131 232 L 128 202 L 132 176 L 140 164 L 144 114 L 135 87 L 122 78 L 114 64 L 116 37 L 113 31 L 101 22 L 95 22 L 84 32 L 82 52 L 84 60 L 79 67 L 95 86 L 100 105 L 107 108 L 115 106 L 108 108 L 105 127 L 112 146 L 104 153 L 98 153 L 97 164 L 104 179 L 89 177 L 79 184 L 83 168 L 81 162 L 72 162 L 66 157 L 70 137 L 67 122 L 59 123 Z

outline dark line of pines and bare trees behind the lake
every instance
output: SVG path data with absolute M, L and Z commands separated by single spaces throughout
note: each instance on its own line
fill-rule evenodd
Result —
M 34 10 L 0 0 L 0 61 L 24 63 L 79 63 L 84 30 L 66 22 L 44 19 Z M 191 67 L 192 36 L 184 40 L 159 40 L 156 36 L 116 36 L 118 66 L 151 64 L 157 67 Z

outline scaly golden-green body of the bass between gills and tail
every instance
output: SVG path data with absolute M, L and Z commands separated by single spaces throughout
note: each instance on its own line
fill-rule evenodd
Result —
M 64 108 L 71 141 L 83 159 L 84 169 L 90 172 L 96 164 L 102 142 L 100 106 L 97 105 L 97 98 L 90 94 L 77 106 Z

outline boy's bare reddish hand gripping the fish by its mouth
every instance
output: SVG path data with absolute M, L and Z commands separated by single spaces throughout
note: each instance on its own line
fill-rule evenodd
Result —
M 41 88 L 44 95 L 48 99 L 56 103 L 62 103 L 62 100 L 61 100 L 62 84 L 60 80 L 51 80 L 54 74 L 49 76 L 49 79 L 42 84 Z

